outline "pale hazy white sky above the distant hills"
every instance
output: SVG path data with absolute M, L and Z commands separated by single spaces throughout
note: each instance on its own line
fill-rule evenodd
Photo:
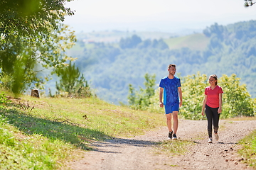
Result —
M 244 0 L 74 0 L 75 10 L 65 23 L 78 32 L 93 30 L 154 30 L 177 32 L 204 29 L 213 23 L 227 25 L 256 19 L 256 5 Z

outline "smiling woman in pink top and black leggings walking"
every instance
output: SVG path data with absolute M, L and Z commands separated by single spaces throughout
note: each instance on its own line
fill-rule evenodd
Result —
M 210 86 L 205 89 L 205 98 L 203 100 L 203 107 L 201 114 L 204 115 L 206 111 L 206 117 L 208 120 L 208 143 L 213 142 L 212 133 L 214 130 L 215 140 L 218 140 L 218 123 L 220 119 L 220 113 L 222 112 L 222 94 L 223 90 L 218 86 L 218 78 L 215 74 L 209 77 Z

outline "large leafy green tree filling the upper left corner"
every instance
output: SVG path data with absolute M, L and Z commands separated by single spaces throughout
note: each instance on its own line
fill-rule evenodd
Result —
M 56 69 L 72 60 L 65 55 L 65 49 L 72 47 L 75 35 L 61 23 L 65 14 L 74 14 L 64 6 L 68 1 L 0 2 L 1 81 L 7 84 L 4 77 L 10 77 L 13 81 L 9 87 L 14 94 L 43 81 L 36 76 L 40 72 L 36 67 Z

